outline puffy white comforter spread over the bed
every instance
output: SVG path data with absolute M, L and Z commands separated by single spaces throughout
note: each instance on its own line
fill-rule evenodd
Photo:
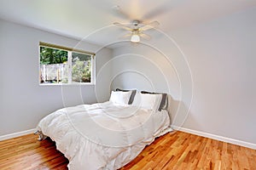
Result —
M 170 132 L 166 111 L 141 110 L 111 102 L 55 111 L 38 123 L 69 160 L 69 169 L 118 169 L 154 138 Z

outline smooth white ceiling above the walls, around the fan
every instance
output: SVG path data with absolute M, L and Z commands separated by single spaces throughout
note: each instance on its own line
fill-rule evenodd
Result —
M 0 18 L 104 44 L 126 33 L 113 22 L 158 20 L 160 30 L 169 32 L 253 6 L 256 0 L 0 0 Z

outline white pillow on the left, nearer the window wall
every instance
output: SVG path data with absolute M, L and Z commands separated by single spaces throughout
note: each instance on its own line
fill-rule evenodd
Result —
M 129 92 L 111 92 L 109 101 L 116 105 L 128 105 L 129 99 L 131 97 L 131 91 Z

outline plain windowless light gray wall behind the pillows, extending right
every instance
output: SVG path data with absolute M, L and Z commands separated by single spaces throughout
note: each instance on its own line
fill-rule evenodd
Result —
M 117 48 L 113 51 L 113 72 L 125 73 L 113 76 L 112 88 L 151 90 L 149 82 L 154 82 L 155 91 L 167 91 L 173 99 L 181 100 L 179 116 L 172 115 L 175 125 L 256 144 L 255 20 L 256 10 L 250 8 L 169 32 L 181 51 L 161 33 L 153 37 L 152 47 Z M 169 90 L 163 75 L 167 77 Z M 183 123 L 187 111 L 189 116 Z

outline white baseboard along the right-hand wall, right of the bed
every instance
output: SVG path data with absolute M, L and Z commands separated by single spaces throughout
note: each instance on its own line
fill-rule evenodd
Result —
M 173 125 L 171 127 L 177 131 L 182 131 L 185 133 L 192 133 L 192 134 L 196 134 L 198 136 L 202 136 L 202 137 L 206 137 L 206 138 L 210 138 L 210 139 L 216 139 L 216 140 L 223 141 L 223 142 L 230 143 L 230 144 L 237 144 L 237 145 L 241 145 L 241 146 L 256 150 L 256 144 L 253 144 L 253 143 L 249 143 L 249 142 L 245 142 L 245 141 L 241 141 L 241 140 L 237 140 L 237 139 L 230 139 L 230 138 L 218 136 L 218 135 L 215 135 L 212 133 L 204 133 L 204 132 L 200 132 L 200 131 L 196 131 L 196 130 L 192 130 L 192 129 L 184 128 L 184 127 L 177 127 L 177 126 L 173 126 Z

